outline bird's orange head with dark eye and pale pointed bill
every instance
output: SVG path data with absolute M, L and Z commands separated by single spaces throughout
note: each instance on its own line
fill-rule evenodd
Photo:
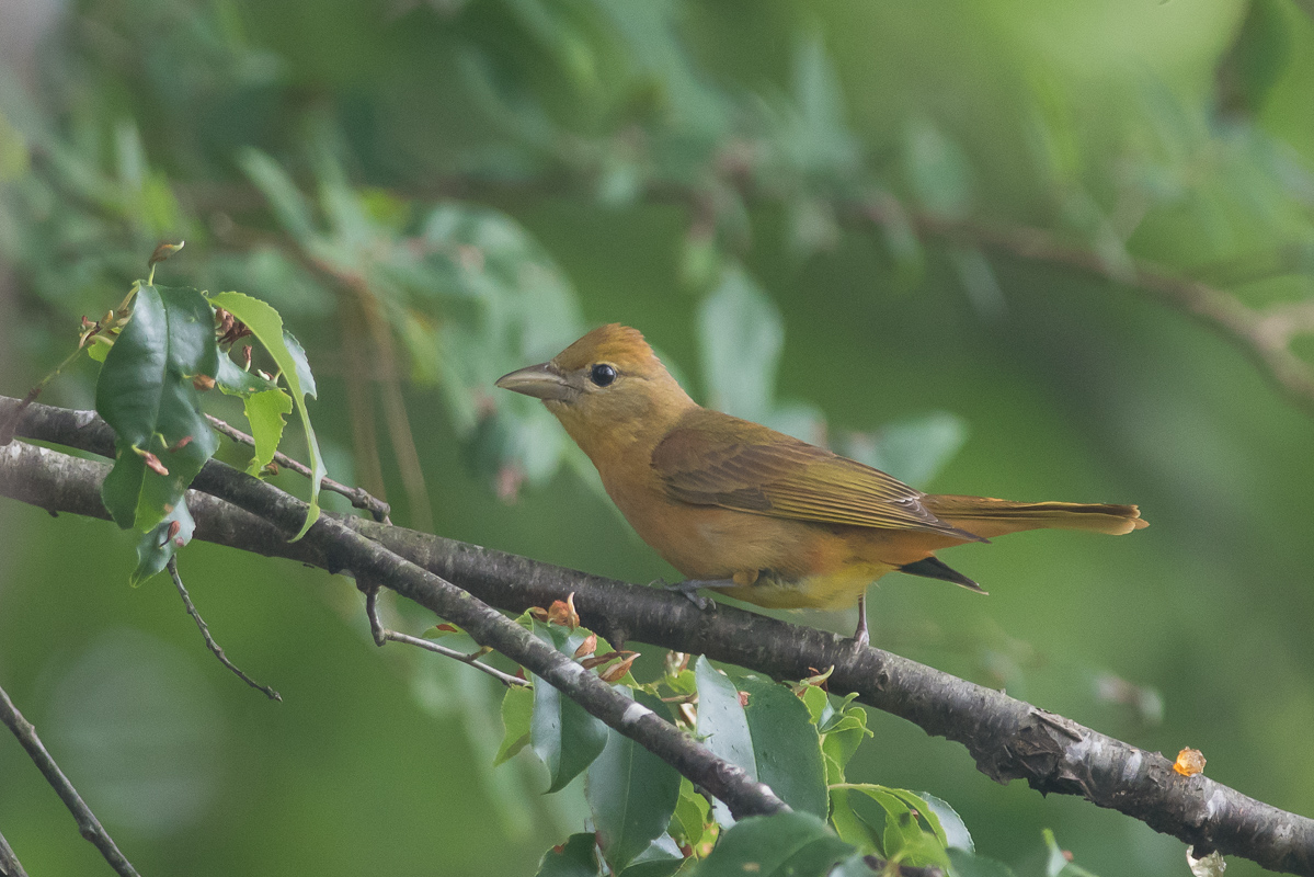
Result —
M 541 398 L 589 456 L 661 437 L 694 400 L 636 329 L 599 326 L 545 363 L 497 385 Z

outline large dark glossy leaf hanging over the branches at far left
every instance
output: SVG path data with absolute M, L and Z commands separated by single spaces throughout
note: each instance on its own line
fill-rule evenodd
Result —
M 214 454 L 192 379 L 217 369 L 214 313 L 201 293 L 141 287 L 96 383 L 96 410 L 117 448 L 101 498 L 120 527 L 152 530 Z M 151 471 L 145 454 L 168 473 Z

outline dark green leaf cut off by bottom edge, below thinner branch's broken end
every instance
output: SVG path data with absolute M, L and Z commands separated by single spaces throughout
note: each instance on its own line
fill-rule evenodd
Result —
M 749 817 L 727 830 L 695 877 L 823 877 L 854 852 L 811 813 Z

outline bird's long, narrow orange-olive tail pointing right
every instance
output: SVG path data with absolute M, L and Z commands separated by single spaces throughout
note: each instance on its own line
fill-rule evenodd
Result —
M 922 498 L 941 521 L 979 536 L 1001 536 L 1020 530 L 1088 530 L 1120 536 L 1150 526 L 1134 505 L 1085 502 L 1010 502 L 989 497 L 932 494 Z

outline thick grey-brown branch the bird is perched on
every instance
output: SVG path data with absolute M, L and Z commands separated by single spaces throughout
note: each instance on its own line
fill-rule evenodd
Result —
M 0 418 L 16 404 L 0 397 Z M 96 452 L 112 452 L 113 447 L 109 429 L 85 412 L 34 405 L 18 431 L 29 438 Z M 99 494 L 105 471 L 104 464 L 22 443 L 0 448 L 0 493 L 53 511 L 106 517 Z M 330 538 L 311 538 L 317 534 L 311 529 L 302 542 L 288 543 L 285 535 L 260 518 L 268 513 L 286 533 L 294 531 L 301 506 L 290 497 L 213 462 L 202 469 L 194 486 L 212 494 L 196 490 L 188 494 L 197 538 L 330 571 L 346 568 L 348 560 L 361 565 L 357 552 L 367 548 L 386 548 L 382 554 L 394 552 L 398 560 L 371 560 L 384 573 L 374 576 L 371 572 L 373 580 L 386 581 L 472 634 L 470 626 L 444 609 L 457 602 L 445 596 L 447 581 L 459 582 L 469 594 L 510 611 L 545 606 L 574 592 L 583 623 L 612 643 L 637 639 L 704 653 L 775 678 L 804 678 L 813 668 L 834 667 L 830 690 L 855 692 L 869 706 L 905 718 L 928 734 L 962 743 L 978 768 L 999 782 L 1025 778 L 1042 793 L 1080 795 L 1173 835 L 1194 845 L 1201 856 L 1218 849 L 1273 870 L 1314 876 L 1314 820 L 1255 801 L 1202 774 L 1183 777 L 1156 752 L 897 655 L 875 648 L 858 650 L 851 640 L 838 635 L 729 606 L 704 613 L 658 589 L 363 518 L 325 513 L 322 533 L 331 534 Z M 215 497 L 246 509 L 260 509 L 261 515 L 235 509 Z M 422 579 L 398 571 L 399 557 L 435 576 Z M 487 644 L 507 653 L 499 643 Z M 510 656 L 516 657 L 515 653 Z

